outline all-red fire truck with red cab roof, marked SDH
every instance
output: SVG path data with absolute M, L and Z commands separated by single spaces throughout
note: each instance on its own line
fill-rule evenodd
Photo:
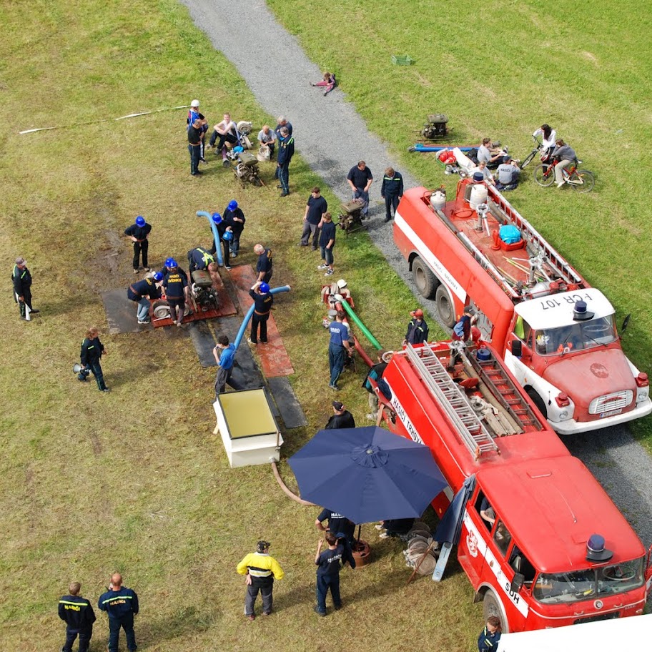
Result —
M 448 480 L 439 515 L 475 477 L 455 498 L 458 559 L 485 617 L 524 631 L 643 613 L 641 540 L 493 348 L 406 345 L 377 394 L 390 429 L 428 446 Z

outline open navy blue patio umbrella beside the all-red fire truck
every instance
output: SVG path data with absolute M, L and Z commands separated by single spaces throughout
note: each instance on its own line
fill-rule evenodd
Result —
M 375 426 L 320 430 L 289 462 L 302 498 L 354 523 L 418 517 L 447 485 L 426 446 Z

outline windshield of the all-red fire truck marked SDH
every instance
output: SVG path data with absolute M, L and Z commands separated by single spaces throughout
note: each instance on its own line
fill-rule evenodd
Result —
M 543 604 L 580 602 L 643 586 L 643 558 L 568 573 L 539 573 L 534 598 Z

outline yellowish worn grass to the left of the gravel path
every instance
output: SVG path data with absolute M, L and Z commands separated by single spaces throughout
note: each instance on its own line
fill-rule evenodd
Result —
M 279 298 L 275 317 L 310 425 L 285 433 L 287 460 L 332 413 L 323 277 L 317 255 L 297 255 L 295 247 L 308 190 L 319 179 L 298 157 L 292 183 L 301 190 L 287 199 L 278 197 L 270 167 L 263 172 L 270 186 L 261 189 L 240 189 L 215 163 L 192 179 L 184 109 L 84 124 L 197 96 L 209 117 L 232 109 L 257 126 L 272 119 L 171 0 L 5 4 L 0 21 L 0 648 L 59 649 L 64 626 L 56 601 L 69 581 L 81 581 L 95 603 L 114 570 L 141 597 L 143 649 L 332 646 L 312 612 L 317 510 L 287 499 L 270 468 L 228 468 L 212 435 L 214 370 L 199 367 L 186 335 L 174 329 L 109 337 L 99 297 L 134 279 L 131 247 L 119 234 L 137 214 L 154 226 L 152 262 L 183 260 L 189 248 L 209 242 L 207 224 L 194 212 L 237 199 L 247 214 L 238 262 L 253 262 L 252 245 L 265 242 L 275 250 L 275 282 L 293 287 Z M 234 88 L 237 106 L 224 91 Z M 54 125 L 72 126 L 18 135 Z M 327 189 L 325 196 L 337 206 Z M 29 262 L 41 309 L 29 324 L 10 299 L 16 255 Z M 365 234 L 340 236 L 336 255 L 337 278 L 349 281 L 357 312 L 383 344 L 397 345 L 414 307 L 405 285 Z M 369 270 L 377 283 L 368 282 Z M 71 373 L 90 325 L 102 327 L 109 350 L 109 395 Z M 360 380 L 345 377 L 340 395 L 364 422 Z M 287 463 L 280 467 L 294 486 Z M 370 526 L 363 534 L 375 540 Z M 242 617 L 244 583 L 235 565 L 263 537 L 287 575 L 275 592 L 278 613 L 251 624 Z M 482 616 L 464 574 L 453 565 L 440 586 L 406 587 L 400 550 L 392 540 L 377 543 L 372 565 L 345 573 L 347 608 L 329 628 L 350 633 L 362 650 L 397 649 L 412 632 L 435 648 L 472 648 Z M 94 652 L 106 649 L 106 618 L 99 620 Z

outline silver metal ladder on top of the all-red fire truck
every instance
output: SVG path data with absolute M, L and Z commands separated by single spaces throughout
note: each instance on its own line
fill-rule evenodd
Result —
M 413 345 L 408 344 L 406 352 L 410 362 L 420 372 L 430 393 L 448 413 L 466 448 L 475 460 L 478 460 L 483 453 L 492 450 L 500 454 L 498 445 L 478 419 L 466 397 L 460 392 L 458 385 L 453 382 L 430 345 L 425 344 L 423 347 L 415 349 Z

